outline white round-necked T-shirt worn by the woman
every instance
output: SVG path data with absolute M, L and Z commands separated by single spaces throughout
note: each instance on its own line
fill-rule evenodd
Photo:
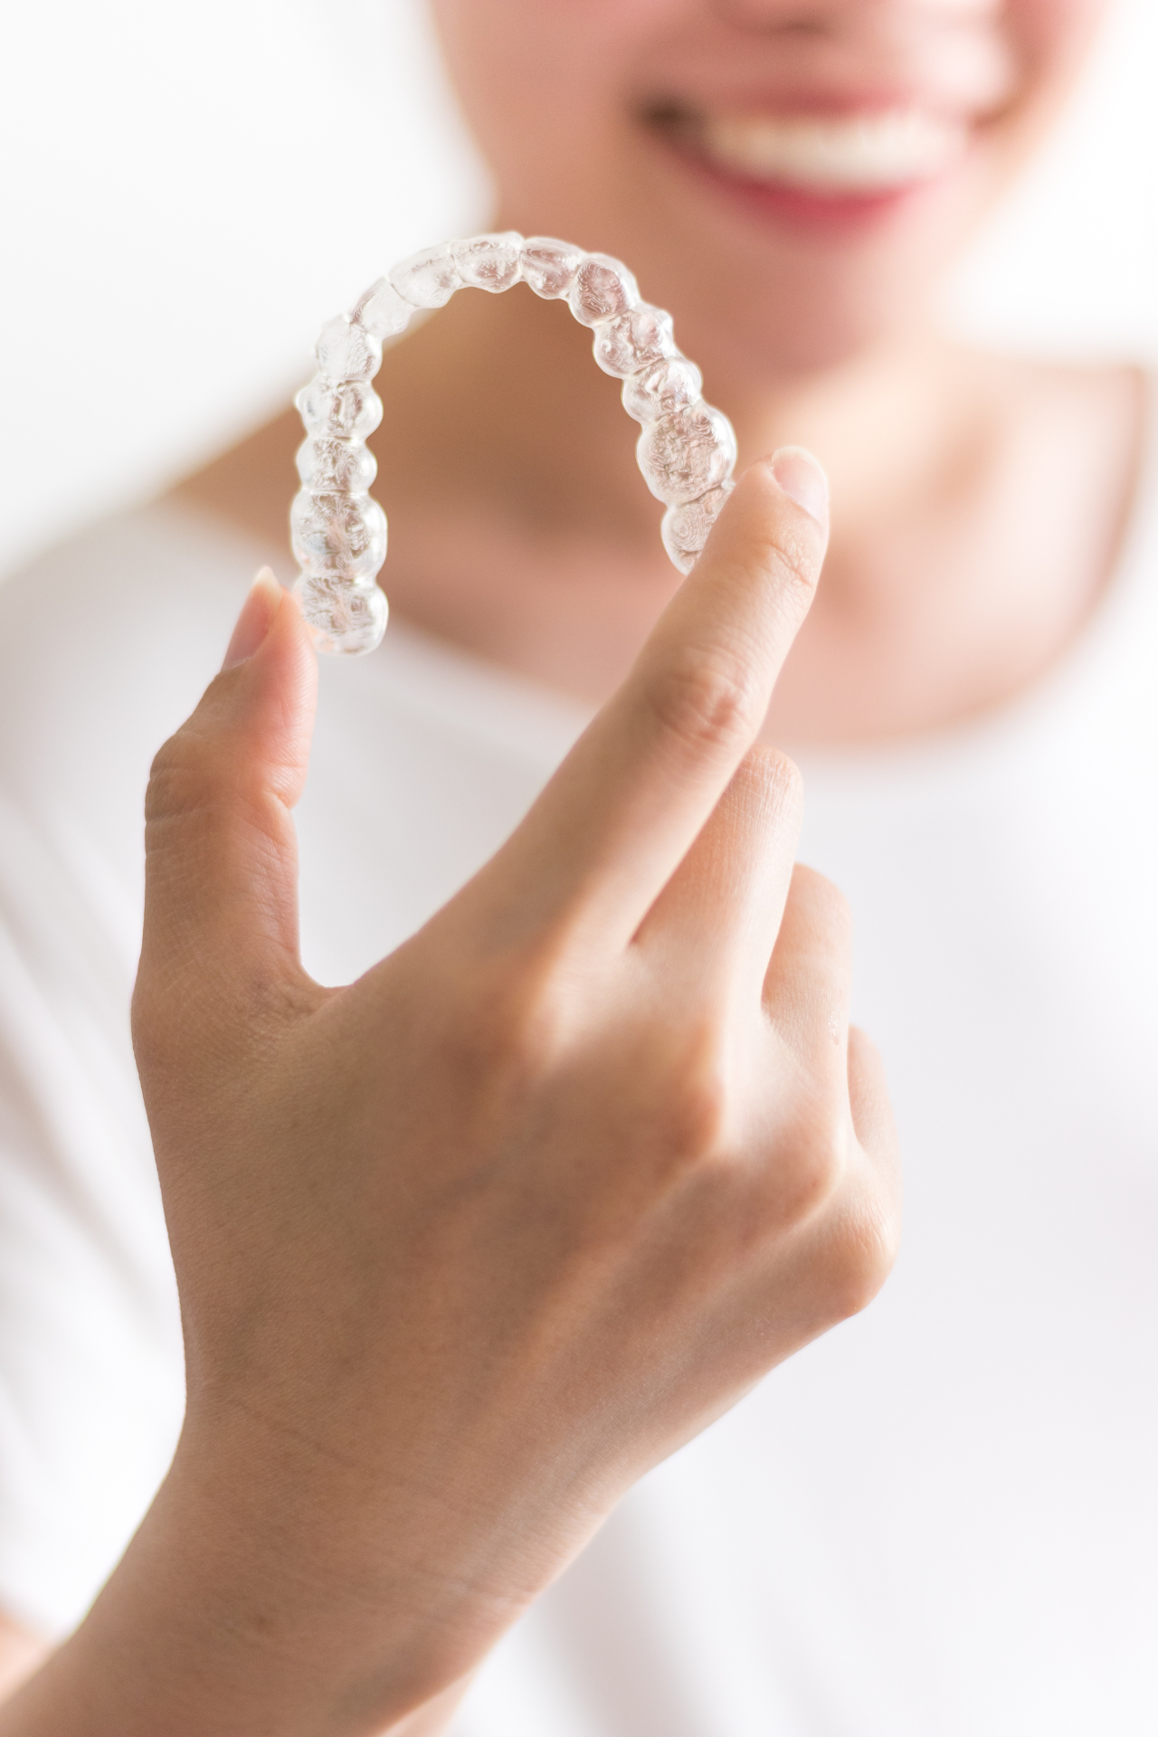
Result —
M 1158 455 L 1142 500 L 1028 697 L 802 761 L 901 1127 L 898 1270 L 627 1497 L 462 1737 L 1158 1730 Z M 260 558 L 155 507 L 0 591 L 0 1607 L 49 1633 L 181 1421 L 127 1025 L 141 799 Z M 585 716 L 403 627 L 326 665 L 307 968 L 411 933 Z

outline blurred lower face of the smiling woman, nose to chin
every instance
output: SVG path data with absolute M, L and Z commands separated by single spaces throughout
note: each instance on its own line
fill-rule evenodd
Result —
M 500 221 L 753 386 L 911 328 L 1108 0 L 434 0 Z

